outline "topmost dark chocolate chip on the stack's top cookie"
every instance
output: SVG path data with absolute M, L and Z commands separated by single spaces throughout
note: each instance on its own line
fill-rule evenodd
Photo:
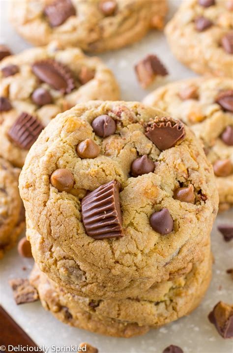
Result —
M 109 115 L 98 116 L 92 121 L 91 126 L 99 137 L 113 135 L 116 131 L 116 123 Z

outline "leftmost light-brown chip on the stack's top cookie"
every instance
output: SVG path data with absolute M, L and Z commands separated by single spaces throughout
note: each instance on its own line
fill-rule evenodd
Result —
M 50 182 L 59 192 L 69 192 L 73 188 L 74 177 L 68 169 L 60 168 L 51 174 Z

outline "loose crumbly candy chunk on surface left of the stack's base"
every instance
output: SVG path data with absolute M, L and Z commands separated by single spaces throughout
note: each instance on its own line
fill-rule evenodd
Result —
M 39 299 L 37 290 L 30 285 L 29 280 L 16 278 L 9 283 L 13 290 L 16 304 L 31 303 Z

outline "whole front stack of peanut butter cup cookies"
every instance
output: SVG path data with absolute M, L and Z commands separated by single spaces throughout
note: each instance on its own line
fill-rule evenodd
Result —
M 31 283 L 59 320 L 130 337 L 200 302 L 218 193 L 201 144 L 173 116 L 137 102 L 76 105 L 31 147 L 20 193 Z

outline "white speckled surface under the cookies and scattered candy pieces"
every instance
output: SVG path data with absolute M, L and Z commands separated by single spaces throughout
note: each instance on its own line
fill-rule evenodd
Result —
M 170 0 L 169 17 L 174 13 L 179 0 Z M 7 0 L 0 0 L 0 42 L 9 45 L 14 53 L 29 48 L 12 29 L 7 21 Z M 195 74 L 178 63 L 173 57 L 161 32 L 150 32 L 146 38 L 133 46 L 100 55 L 103 61 L 114 71 L 121 88 L 123 100 L 141 100 L 149 91 L 138 85 L 133 65 L 146 54 L 157 54 L 167 66 L 170 75 L 160 82 L 188 78 Z M 158 84 L 157 84 L 158 85 Z M 201 306 L 188 317 L 157 330 L 151 330 L 144 336 L 131 339 L 111 338 L 69 327 L 57 321 L 49 312 L 44 311 L 39 302 L 17 306 L 13 300 L 9 279 L 27 277 L 32 260 L 20 258 L 16 249 L 10 251 L 0 262 L 0 303 L 17 321 L 29 336 L 40 346 L 78 345 L 88 342 L 99 349 L 99 353 L 162 353 L 170 344 L 180 346 L 184 353 L 232 353 L 232 340 L 224 340 L 207 319 L 213 306 L 223 300 L 233 302 L 233 281 L 226 269 L 233 267 L 233 241 L 226 243 L 216 230 L 216 225 L 231 222 L 233 212 L 217 217 L 212 231 L 212 249 L 215 257 L 211 286 Z M 22 267 L 27 270 L 23 271 Z

